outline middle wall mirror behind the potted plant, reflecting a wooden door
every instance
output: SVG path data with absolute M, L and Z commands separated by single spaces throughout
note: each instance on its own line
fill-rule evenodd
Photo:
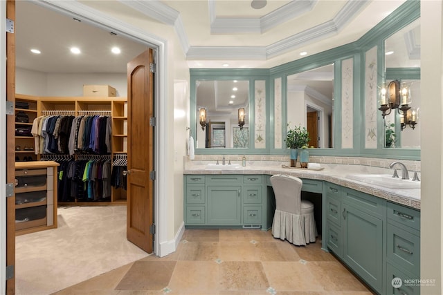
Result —
M 287 77 L 287 123 L 306 127 L 309 147 L 333 147 L 333 109 L 334 64 Z

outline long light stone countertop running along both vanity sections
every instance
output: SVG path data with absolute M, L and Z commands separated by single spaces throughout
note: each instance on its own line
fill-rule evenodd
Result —
M 392 171 L 386 171 L 386 169 L 374 170 L 372 169 L 372 167 L 360 165 L 322 164 L 321 167 L 323 168 L 322 170 L 309 170 L 283 167 L 282 164 L 253 164 L 247 165 L 245 167 L 239 166 L 238 168 L 234 168 L 233 166 L 229 166 L 226 164 L 221 169 L 206 169 L 206 164 L 190 164 L 186 166 L 186 169 L 183 173 L 265 175 L 287 174 L 296 176 L 298 178 L 325 180 L 327 182 L 341 185 L 342 187 L 349 187 L 350 189 L 355 189 L 356 191 L 369 193 L 370 195 L 377 196 L 391 202 L 396 202 L 398 204 L 404 204 L 408 207 L 420 209 L 420 189 L 388 189 L 386 187 L 380 187 L 375 184 L 360 182 L 358 180 L 352 180 L 346 177 L 346 175 L 356 173 L 388 174 L 392 173 Z

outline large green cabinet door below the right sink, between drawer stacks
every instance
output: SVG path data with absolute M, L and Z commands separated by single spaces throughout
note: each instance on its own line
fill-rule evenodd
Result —
M 343 260 L 377 292 L 383 282 L 383 220 L 343 203 Z

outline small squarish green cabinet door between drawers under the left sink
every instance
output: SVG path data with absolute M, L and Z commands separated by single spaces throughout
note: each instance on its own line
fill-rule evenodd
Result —
M 242 225 L 242 187 L 208 187 L 208 225 Z

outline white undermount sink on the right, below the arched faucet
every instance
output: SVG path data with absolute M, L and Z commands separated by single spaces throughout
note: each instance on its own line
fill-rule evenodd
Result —
M 388 189 L 419 189 L 420 182 L 401 178 L 392 178 L 389 174 L 350 174 L 346 178 L 379 185 Z

